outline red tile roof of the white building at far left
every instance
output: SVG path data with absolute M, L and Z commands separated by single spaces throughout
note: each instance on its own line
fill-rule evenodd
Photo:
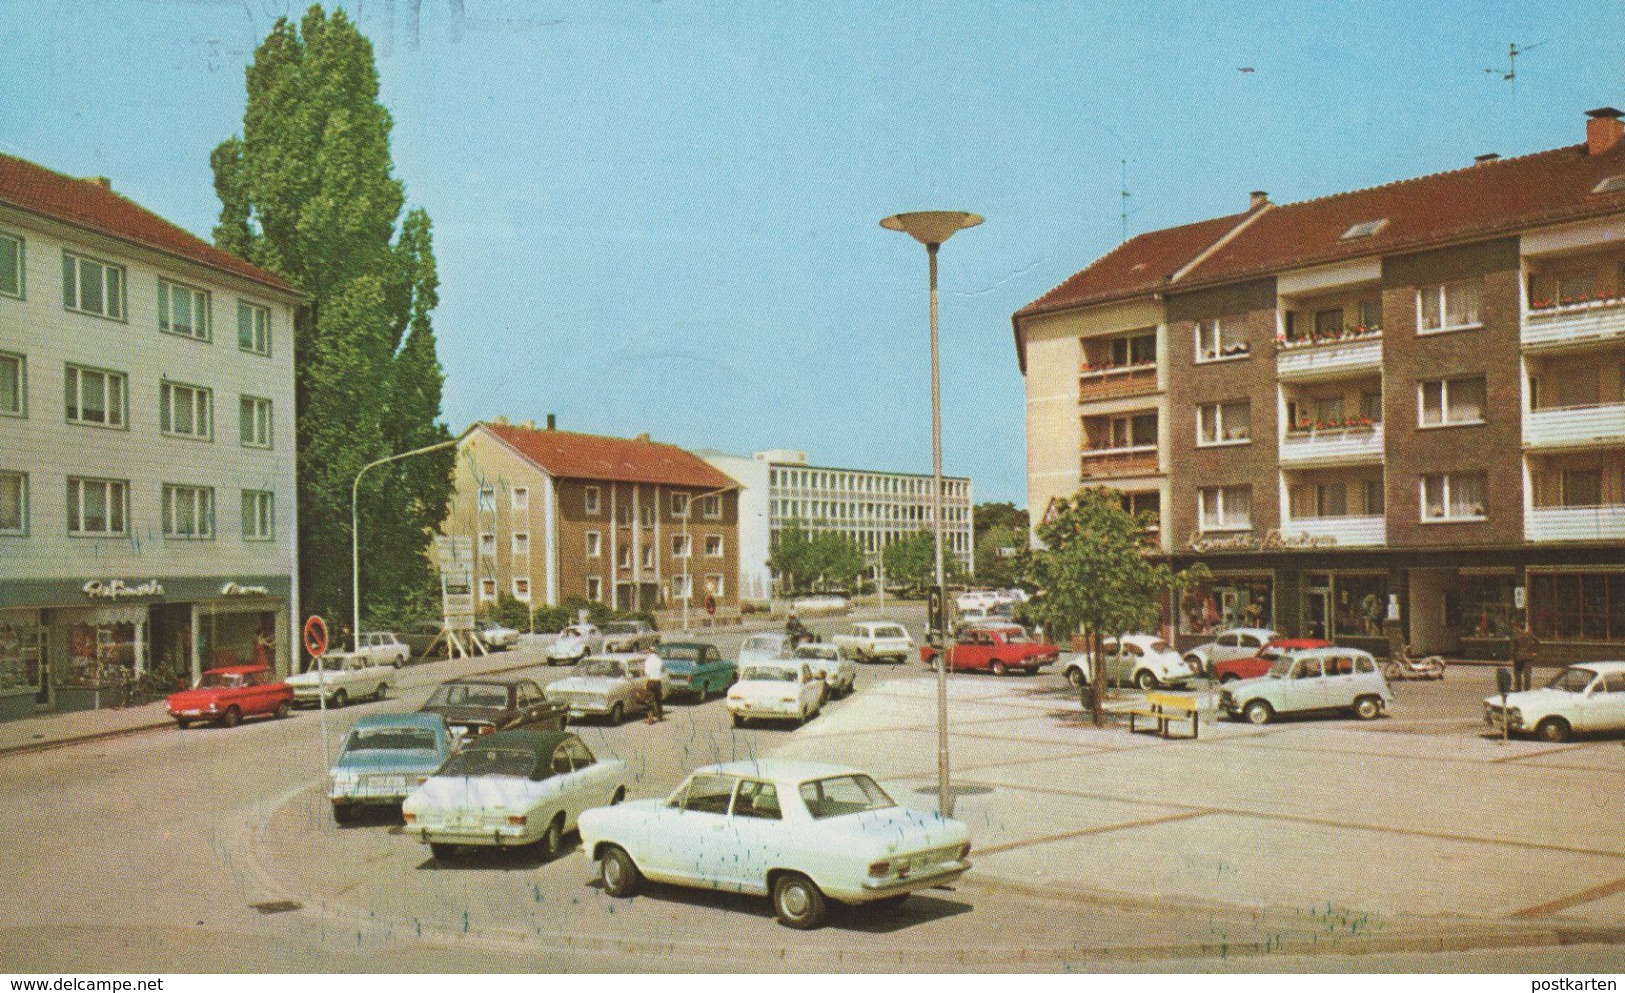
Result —
M 0 154 L 0 203 L 179 255 L 273 289 L 297 293 L 278 276 L 221 252 L 91 179 L 73 179 L 26 159 Z

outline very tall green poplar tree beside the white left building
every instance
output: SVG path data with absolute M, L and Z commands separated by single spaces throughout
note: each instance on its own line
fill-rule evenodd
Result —
M 427 215 L 401 219 L 372 46 L 341 10 L 278 20 L 247 70 L 242 137 L 210 156 L 214 242 L 309 296 L 292 335 L 302 608 L 349 614 L 349 488 L 369 462 L 448 439 Z M 396 231 L 396 223 L 401 221 Z M 367 473 L 364 613 L 434 601 L 426 548 L 445 514 L 450 449 Z

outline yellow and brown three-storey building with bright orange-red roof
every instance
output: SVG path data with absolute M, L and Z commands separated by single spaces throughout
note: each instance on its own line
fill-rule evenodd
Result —
M 618 611 L 738 608 L 739 499 L 730 476 L 653 442 L 510 424 L 463 432 L 447 535 L 474 544 L 474 601 L 500 595 Z

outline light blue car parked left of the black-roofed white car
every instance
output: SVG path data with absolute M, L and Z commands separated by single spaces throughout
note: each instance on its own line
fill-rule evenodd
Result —
M 452 757 L 439 713 L 370 713 L 344 735 L 328 772 L 333 821 L 349 824 L 369 804 L 398 804 Z

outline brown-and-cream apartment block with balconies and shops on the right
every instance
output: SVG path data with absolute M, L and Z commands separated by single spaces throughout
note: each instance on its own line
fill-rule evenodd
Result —
M 1176 608 L 1386 652 L 1625 644 L 1625 125 L 1134 237 L 1012 319 L 1029 505 L 1159 514 Z

